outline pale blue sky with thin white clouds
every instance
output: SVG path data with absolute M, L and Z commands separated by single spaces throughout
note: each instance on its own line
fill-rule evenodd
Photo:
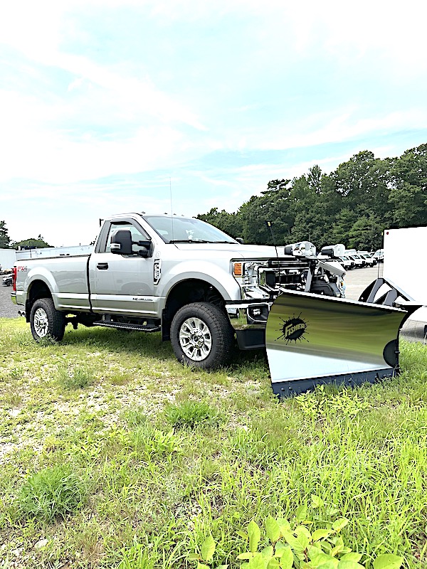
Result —
M 427 3 L 0 4 L 0 220 L 88 244 L 99 219 L 237 211 L 268 181 L 427 142 Z

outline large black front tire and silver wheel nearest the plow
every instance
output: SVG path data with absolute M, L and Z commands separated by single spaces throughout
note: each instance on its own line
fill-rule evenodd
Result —
M 221 309 L 209 302 L 194 302 L 176 312 L 171 344 L 176 358 L 184 365 L 215 369 L 230 361 L 234 331 Z

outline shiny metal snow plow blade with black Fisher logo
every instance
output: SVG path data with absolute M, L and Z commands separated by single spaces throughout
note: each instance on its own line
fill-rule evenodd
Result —
M 322 383 L 359 385 L 399 373 L 406 310 L 287 291 L 268 316 L 265 345 L 273 392 L 287 396 Z

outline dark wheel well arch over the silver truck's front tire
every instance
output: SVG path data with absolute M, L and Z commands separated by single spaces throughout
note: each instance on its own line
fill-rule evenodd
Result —
M 209 282 L 189 279 L 177 283 L 169 292 L 166 307 L 162 314 L 162 339 L 170 339 L 172 319 L 176 312 L 185 304 L 191 302 L 209 302 L 223 309 L 225 302 L 221 293 Z

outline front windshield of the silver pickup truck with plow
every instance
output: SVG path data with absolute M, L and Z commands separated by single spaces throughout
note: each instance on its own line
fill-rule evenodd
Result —
M 143 216 L 164 243 L 238 243 L 221 230 L 196 218 Z

